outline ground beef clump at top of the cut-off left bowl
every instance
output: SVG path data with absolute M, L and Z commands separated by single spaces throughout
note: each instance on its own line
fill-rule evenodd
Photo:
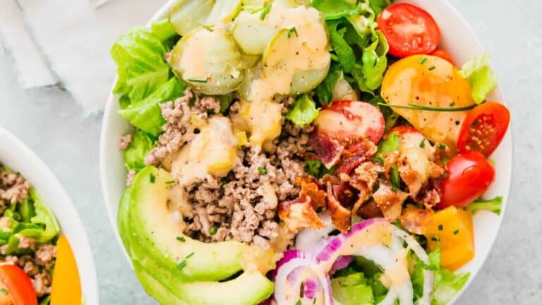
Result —
M 0 164 L 0 213 L 4 213 L 6 203 L 23 202 L 28 197 L 28 190 L 32 187 L 20 174 L 10 172 Z

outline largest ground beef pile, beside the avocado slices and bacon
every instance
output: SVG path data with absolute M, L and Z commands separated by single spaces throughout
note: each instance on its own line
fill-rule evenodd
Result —
M 238 105 L 233 104 L 230 112 Z M 239 150 L 226 178 L 186 186 L 191 203 L 185 215 L 186 234 L 201 241 L 234 239 L 269 249 L 280 230 L 277 203 L 299 196 L 295 178 L 304 173 L 299 154 L 308 150 L 312 128 L 287 121 L 283 130 L 267 152 L 250 145 Z

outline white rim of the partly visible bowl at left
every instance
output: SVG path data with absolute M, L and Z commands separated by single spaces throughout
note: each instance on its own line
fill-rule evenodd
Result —
M 79 270 L 85 304 L 98 304 L 98 285 L 92 249 L 83 222 L 59 181 L 30 148 L 0 127 L 0 162 L 27 179 L 53 211 L 68 239 Z

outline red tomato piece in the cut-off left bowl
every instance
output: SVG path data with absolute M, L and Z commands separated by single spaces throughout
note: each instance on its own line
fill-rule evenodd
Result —
M 17 265 L 0 263 L 0 282 L 13 305 L 37 305 L 37 295 L 30 277 Z

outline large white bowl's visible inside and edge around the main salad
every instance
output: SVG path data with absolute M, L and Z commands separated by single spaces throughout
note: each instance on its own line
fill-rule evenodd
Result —
M 149 21 L 166 18 L 171 6 L 178 0 L 170 0 L 155 14 Z M 474 56 L 479 56 L 484 52 L 483 47 L 474 35 L 474 32 L 469 27 L 469 24 L 450 5 L 446 0 L 406 0 L 396 2 L 409 2 L 416 4 L 428 11 L 437 21 L 441 35 L 440 47 L 449 52 L 454 61 L 459 66 L 464 64 Z M 498 101 L 504 104 L 505 97 L 502 94 L 500 86 L 497 85 L 495 90 L 490 94 L 488 100 Z M 123 119 L 117 110 L 119 109 L 119 97 L 113 94 L 109 95 L 109 100 L 105 107 L 104 121 L 102 125 L 102 137 L 100 139 L 100 172 L 102 176 L 102 190 L 104 193 L 109 220 L 114 228 L 117 240 L 122 246 L 121 239 L 118 234 L 116 225 L 116 213 L 119 207 L 119 199 L 126 185 L 126 169 L 122 152 L 119 150 L 119 138 L 131 131 L 131 126 L 128 121 Z M 493 246 L 493 242 L 497 237 L 500 228 L 502 217 L 505 214 L 506 205 L 510 193 L 510 185 L 512 181 L 512 136 L 507 133 L 499 148 L 495 150 L 491 159 L 495 161 L 495 182 L 484 196 L 485 198 L 493 198 L 494 196 L 502 196 L 501 215 L 495 215 L 488 212 L 479 212 L 474 215 L 474 235 L 476 242 L 476 254 L 472 261 L 464 265 L 457 272 L 469 272 L 469 282 L 464 285 L 462 291 L 457 294 L 453 301 L 459 298 L 467 286 L 474 280 L 474 277 L 481 269 L 484 261 L 488 257 L 489 251 Z M 125 251 L 126 253 L 126 251 Z M 126 257 L 128 255 L 126 254 Z

